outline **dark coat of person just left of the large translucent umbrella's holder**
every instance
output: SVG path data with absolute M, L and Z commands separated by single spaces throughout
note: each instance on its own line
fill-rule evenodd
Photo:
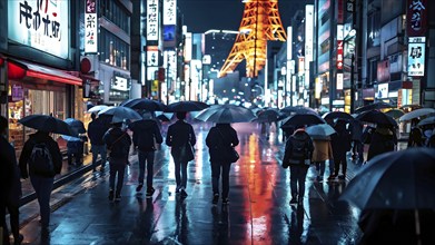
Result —
M 185 120 L 177 120 L 169 126 L 166 145 L 171 147 L 170 153 L 175 160 L 179 160 L 181 151 L 188 146 L 188 143 L 190 143 L 190 146 L 196 144 L 195 131 L 190 124 Z

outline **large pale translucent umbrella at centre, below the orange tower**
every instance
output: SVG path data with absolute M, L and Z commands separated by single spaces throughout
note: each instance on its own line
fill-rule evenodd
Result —
M 241 106 L 215 105 L 200 111 L 196 119 L 216 124 L 247 122 L 255 118 L 254 112 Z

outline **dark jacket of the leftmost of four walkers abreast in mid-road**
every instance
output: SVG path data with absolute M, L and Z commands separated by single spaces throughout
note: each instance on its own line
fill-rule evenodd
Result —
M 126 131 L 120 127 L 112 127 L 105 134 L 102 140 L 109 153 L 109 161 L 128 163 L 131 138 Z

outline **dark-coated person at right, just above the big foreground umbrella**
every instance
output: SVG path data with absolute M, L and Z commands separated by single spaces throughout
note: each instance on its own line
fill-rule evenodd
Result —
M 397 136 L 389 126 L 377 125 L 373 133 L 370 146 L 368 147 L 367 160 L 370 160 L 377 155 L 393 151 L 397 145 Z

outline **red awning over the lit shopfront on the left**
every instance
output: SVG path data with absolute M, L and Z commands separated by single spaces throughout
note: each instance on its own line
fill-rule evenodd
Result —
M 71 76 L 66 71 L 14 59 L 8 59 L 8 77 L 10 79 L 32 77 L 67 85 L 82 85 L 80 78 Z

